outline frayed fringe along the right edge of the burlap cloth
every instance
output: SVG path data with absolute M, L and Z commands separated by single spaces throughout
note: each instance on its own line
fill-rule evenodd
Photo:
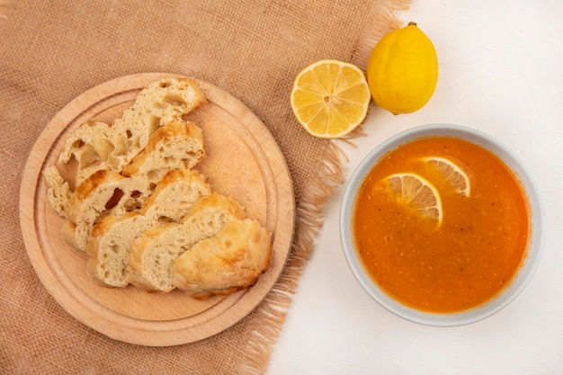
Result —
M 373 10 L 369 17 L 369 27 L 359 41 L 353 63 L 365 69 L 371 49 L 387 32 L 397 29 L 401 22 L 395 11 L 407 10 L 410 0 L 385 0 Z M 379 22 L 376 22 L 378 20 Z M 354 130 L 351 137 L 362 137 L 362 127 Z M 264 301 L 255 309 L 254 314 L 260 322 L 251 334 L 245 355 L 239 363 L 237 373 L 264 374 L 268 368 L 273 346 L 277 343 L 281 328 L 285 323 L 293 294 L 296 292 L 299 277 L 313 251 L 315 238 L 324 223 L 326 202 L 335 194 L 343 183 L 343 165 L 346 160 L 344 151 L 334 141 L 326 141 L 326 153 L 319 165 L 317 179 L 308 190 L 302 193 L 296 211 L 296 228 L 290 255 L 280 279 Z

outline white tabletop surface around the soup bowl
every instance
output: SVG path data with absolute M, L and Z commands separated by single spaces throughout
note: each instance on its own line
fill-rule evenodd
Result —
M 563 2 L 412 3 L 397 15 L 433 40 L 436 92 L 408 115 L 372 106 L 368 137 L 342 146 L 345 181 L 401 130 L 447 122 L 484 131 L 532 171 L 546 219 L 541 263 L 526 290 L 493 317 L 451 328 L 411 323 L 381 308 L 348 269 L 338 233 L 343 185 L 326 207 L 267 373 L 563 374 Z

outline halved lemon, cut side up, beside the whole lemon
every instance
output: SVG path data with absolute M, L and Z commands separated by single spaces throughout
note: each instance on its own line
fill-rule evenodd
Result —
M 291 109 L 309 134 L 338 138 L 365 119 L 370 106 L 368 82 L 359 67 L 320 60 L 301 70 L 290 94 Z

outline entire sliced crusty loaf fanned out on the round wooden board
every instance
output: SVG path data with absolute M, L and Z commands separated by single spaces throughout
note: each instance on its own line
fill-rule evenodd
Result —
M 203 133 L 182 116 L 204 103 L 196 81 L 157 81 L 111 125 L 71 131 L 43 172 L 62 235 L 86 251 L 94 281 L 163 292 L 177 282 L 201 299 L 254 285 L 268 268 L 270 232 L 192 170 Z

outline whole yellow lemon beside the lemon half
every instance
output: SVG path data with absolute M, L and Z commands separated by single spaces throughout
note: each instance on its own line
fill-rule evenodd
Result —
M 438 57 L 432 40 L 415 22 L 388 32 L 375 45 L 367 73 L 371 97 L 393 114 L 424 107 L 438 82 Z

